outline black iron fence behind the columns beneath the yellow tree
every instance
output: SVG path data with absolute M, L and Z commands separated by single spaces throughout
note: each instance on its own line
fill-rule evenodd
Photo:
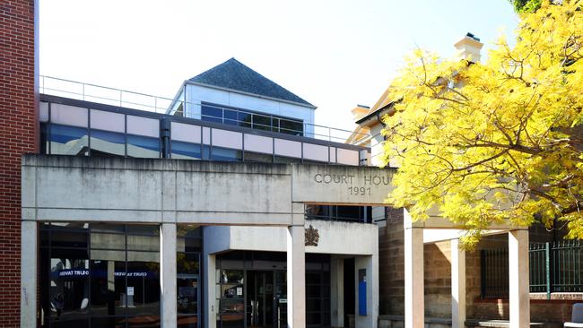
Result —
M 531 243 L 529 246 L 530 292 L 583 292 L 579 240 Z M 482 298 L 508 298 L 508 249 L 483 249 Z

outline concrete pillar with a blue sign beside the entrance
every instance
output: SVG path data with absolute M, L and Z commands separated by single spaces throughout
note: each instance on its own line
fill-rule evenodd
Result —
M 378 245 L 378 244 L 377 244 Z M 367 314 L 359 315 L 359 272 L 366 270 Z M 354 258 L 355 296 L 354 325 L 356 328 L 377 328 L 379 324 L 379 252 Z

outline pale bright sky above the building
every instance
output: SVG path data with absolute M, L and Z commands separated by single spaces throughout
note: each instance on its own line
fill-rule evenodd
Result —
M 173 98 L 235 57 L 350 129 L 414 48 L 455 55 L 472 32 L 483 55 L 518 16 L 507 0 L 53 0 L 39 4 L 40 74 Z

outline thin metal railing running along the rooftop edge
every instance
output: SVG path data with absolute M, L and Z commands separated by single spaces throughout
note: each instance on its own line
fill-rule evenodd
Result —
M 97 102 L 111 106 L 118 106 L 121 108 L 132 108 L 144 110 L 159 114 L 170 114 L 170 108 L 182 108 L 183 116 L 205 121 L 238 125 L 241 127 L 249 127 L 257 130 L 270 131 L 281 134 L 295 134 L 312 139 L 325 140 L 328 142 L 345 142 L 351 135 L 357 134 L 359 141 L 370 138 L 370 134 L 356 133 L 350 130 L 330 127 L 326 125 L 315 125 L 311 123 L 301 122 L 302 129 L 289 129 L 273 124 L 273 119 L 283 119 L 289 121 L 298 121 L 292 117 L 275 117 L 272 115 L 264 115 L 253 111 L 245 111 L 237 108 L 222 108 L 214 105 L 200 104 L 194 102 L 187 102 L 185 99 L 170 99 L 160 96 L 152 96 L 135 91 L 125 91 L 121 89 L 103 87 L 96 84 L 76 82 L 72 80 L 60 79 L 57 77 L 40 75 L 39 92 L 47 95 L 65 97 L 70 99 L 79 99 L 85 101 Z M 222 110 L 222 117 L 215 117 L 203 115 L 203 107 L 213 107 Z M 252 109 L 252 108 L 251 108 Z M 238 118 L 225 118 L 225 111 L 235 111 L 258 117 L 255 122 L 248 122 L 246 120 L 239 120 Z M 253 119 L 253 118 L 252 118 Z M 270 120 L 271 124 L 266 125 L 257 121 Z

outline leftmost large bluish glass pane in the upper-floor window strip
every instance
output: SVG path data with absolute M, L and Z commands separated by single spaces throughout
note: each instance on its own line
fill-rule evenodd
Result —
M 87 129 L 50 125 L 50 153 L 53 155 L 88 155 Z

